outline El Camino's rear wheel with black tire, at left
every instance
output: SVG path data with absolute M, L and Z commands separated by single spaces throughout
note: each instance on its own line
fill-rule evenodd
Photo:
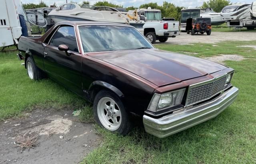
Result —
M 44 73 L 36 66 L 32 57 L 28 57 L 26 60 L 26 67 L 30 79 L 37 81 L 44 78 Z

